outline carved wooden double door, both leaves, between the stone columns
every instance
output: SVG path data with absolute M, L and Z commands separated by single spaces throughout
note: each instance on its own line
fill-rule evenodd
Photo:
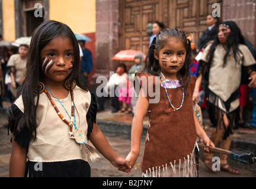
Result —
M 191 32 L 197 47 L 197 40 L 207 28 L 206 17 L 212 13 L 214 3 L 222 7 L 221 0 L 120 0 L 120 50 L 147 53 L 150 35 L 146 32 L 146 25 L 154 21 L 164 22 L 167 28 Z

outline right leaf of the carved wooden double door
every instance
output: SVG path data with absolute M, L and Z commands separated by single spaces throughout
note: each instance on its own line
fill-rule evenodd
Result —
M 206 17 L 215 11 L 212 5 L 220 5 L 220 18 L 222 16 L 222 1 L 220 0 L 170 0 L 169 1 L 169 26 L 191 32 L 193 43 L 197 48 L 197 40 L 207 29 Z

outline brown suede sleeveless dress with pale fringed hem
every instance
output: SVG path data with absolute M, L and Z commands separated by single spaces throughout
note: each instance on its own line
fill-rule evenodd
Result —
M 167 170 L 168 166 L 171 166 L 175 172 L 175 166 L 177 168 L 178 164 L 186 162 L 184 167 L 187 168 L 187 174 L 185 176 L 190 177 L 189 172 L 196 167 L 193 153 L 197 134 L 192 105 L 196 77 L 191 76 L 191 82 L 187 86 L 188 95 L 184 96 L 183 106 L 179 110 L 174 110 L 169 104 L 164 87 L 161 85 L 156 87 L 156 84 L 160 83 L 159 77 L 147 73 L 136 73 L 136 76 L 135 84 L 140 83 L 140 87 L 147 84 L 143 90 L 147 89 L 145 94 L 148 100 L 154 98 L 151 97 L 152 94 L 149 94 L 152 89 L 155 92 L 156 90 L 160 91 L 160 93 L 156 93 L 160 97 L 159 102 L 150 103 L 149 101 L 149 125 L 145 151 L 140 165 L 142 172 L 149 175 L 150 172 L 155 171 L 156 176 L 159 176 L 160 172 Z M 153 80 L 149 77 L 152 77 Z M 180 107 L 183 99 L 183 87 L 167 89 L 167 92 L 172 105 L 176 108 Z

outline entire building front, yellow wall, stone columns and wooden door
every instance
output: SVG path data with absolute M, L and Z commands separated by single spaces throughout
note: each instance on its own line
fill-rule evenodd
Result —
M 235 21 L 245 38 L 256 45 L 256 0 L 0 0 L 0 32 L 5 30 L 5 38 L 15 39 L 27 32 L 25 27 L 30 27 L 24 23 L 28 23 L 29 13 L 34 9 L 24 4 L 36 2 L 43 5 L 44 15 L 43 19 L 31 24 L 56 19 L 92 39 L 87 44 L 94 56 L 92 89 L 98 85 L 98 76 L 109 77 L 109 71 L 116 69 L 120 61 L 112 57 L 119 50 L 147 53 L 148 23 L 161 21 L 168 28 L 192 32 L 196 44 L 207 28 L 207 14 L 215 10 L 213 4 L 220 5 L 222 21 Z

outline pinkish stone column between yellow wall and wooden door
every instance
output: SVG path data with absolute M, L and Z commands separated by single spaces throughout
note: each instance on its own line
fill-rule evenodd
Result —
M 98 76 L 109 77 L 114 71 L 112 57 L 119 51 L 119 1 L 96 1 L 96 44 L 95 44 L 95 74 L 90 83 L 91 88 L 98 86 Z

